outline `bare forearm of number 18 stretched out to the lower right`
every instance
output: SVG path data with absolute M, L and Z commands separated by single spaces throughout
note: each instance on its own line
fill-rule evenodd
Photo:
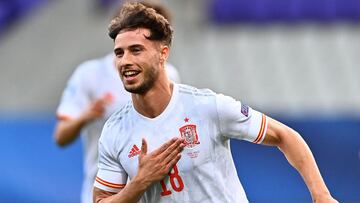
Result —
M 278 147 L 303 177 L 313 200 L 321 195 L 330 195 L 308 145 L 297 132 L 288 129 Z

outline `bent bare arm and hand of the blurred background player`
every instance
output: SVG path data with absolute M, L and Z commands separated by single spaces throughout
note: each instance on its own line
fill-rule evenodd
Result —
M 88 122 L 104 115 L 105 105 L 108 102 L 108 99 L 104 97 L 90 104 L 78 118 L 60 118 L 54 132 L 56 143 L 59 146 L 66 146 L 72 143 Z

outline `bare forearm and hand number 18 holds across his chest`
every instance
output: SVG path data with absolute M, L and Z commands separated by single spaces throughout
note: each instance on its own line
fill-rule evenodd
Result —
M 183 141 L 183 139 L 173 138 L 148 154 L 147 143 L 143 139 L 137 175 L 116 194 L 94 187 L 94 202 L 138 202 L 147 188 L 153 183 L 164 179 L 172 167 L 180 160 L 184 148 Z

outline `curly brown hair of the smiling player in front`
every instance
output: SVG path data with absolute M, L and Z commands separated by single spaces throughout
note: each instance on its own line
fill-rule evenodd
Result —
M 109 36 L 115 40 L 120 31 L 146 28 L 150 30 L 149 40 L 160 41 L 171 46 L 173 29 L 169 21 L 153 8 L 141 3 L 125 3 L 119 14 L 109 25 Z

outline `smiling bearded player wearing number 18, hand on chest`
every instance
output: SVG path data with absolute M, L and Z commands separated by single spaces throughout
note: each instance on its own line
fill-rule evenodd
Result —
M 336 202 L 297 132 L 231 97 L 168 79 L 172 32 L 139 3 L 126 4 L 110 23 L 132 102 L 104 125 L 94 202 L 247 202 L 230 138 L 277 146 L 314 202 Z

